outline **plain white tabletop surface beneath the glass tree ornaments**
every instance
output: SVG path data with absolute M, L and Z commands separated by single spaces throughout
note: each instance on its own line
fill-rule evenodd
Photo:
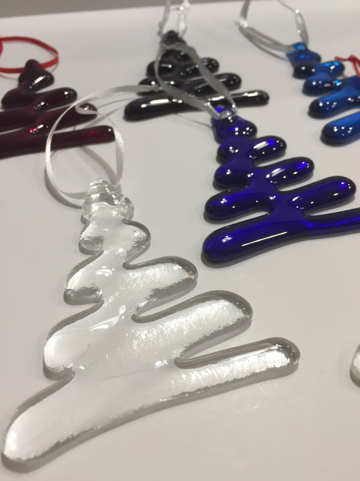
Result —
M 307 19 L 311 47 L 325 60 L 357 53 L 356 0 L 307 0 L 297 6 Z M 257 125 L 259 135 L 283 137 L 287 157 L 312 158 L 312 181 L 340 174 L 360 185 L 360 141 L 341 148 L 320 143 L 324 122 L 307 116 L 310 99 L 301 94 L 301 81 L 292 78 L 287 62 L 257 50 L 240 36 L 233 23 L 238 9 L 236 3 L 194 5 L 187 41 L 201 55 L 217 58 L 222 72 L 239 73 L 242 90 L 261 88 L 270 93 L 268 106 L 243 109 L 242 114 Z M 6 19 L 0 21 L 0 30 L 2 35 L 37 36 L 59 48 L 55 86 L 70 85 L 86 95 L 137 83 L 144 76 L 157 48 L 160 10 Z M 250 15 L 259 27 L 271 17 L 268 33 L 296 40 L 290 14 L 272 2 L 256 2 Z M 2 65 L 22 64 L 33 52 L 31 47 L 11 49 L 1 56 Z M 40 55 L 39 60 L 46 56 Z M 347 73 L 352 75 L 350 66 Z M 0 78 L 1 92 L 12 86 L 14 81 Z M 207 122 L 205 114 L 184 116 Z M 360 339 L 360 234 L 290 244 L 226 268 L 206 267 L 200 259 L 201 245 L 214 226 L 203 220 L 203 204 L 215 193 L 212 177 L 218 165 L 210 129 L 177 116 L 138 124 L 123 122 L 119 112 L 113 118 L 126 143 L 123 192 L 135 204 L 134 219 L 152 233 L 152 246 L 139 261 L 172 254 L 195 263 L 199 281 L 192 295 L 232 290 L 253 307 L 252 326 L 226 345 L 284 336 L 301 351 L 299 369 L 282 379 L 146 416 L 29 474 L 1 465 L 0 480 L 354 479 L 360 389 L 350 380 L 349 367 Z M 111 146 L 96 151 L 111 158 Z M 63 164 L 59 178 L 64 188 L 84 190 L 94 169 L 88 161 L 87 167 L 76 161 L 77 156 L 75 150 L 56 155 L 57 164 Z M 67 273 L 84 258 L 78 251 L 80 212 L 48 194 L 43 169 L 42 154 L 0 161 L 1 430 L 17 405 L 50 384 L 42 365 L 48 330 L 82 309 L 63 301 Z M 348 208 L 355 206 L 360 206 L 359 194 Z

